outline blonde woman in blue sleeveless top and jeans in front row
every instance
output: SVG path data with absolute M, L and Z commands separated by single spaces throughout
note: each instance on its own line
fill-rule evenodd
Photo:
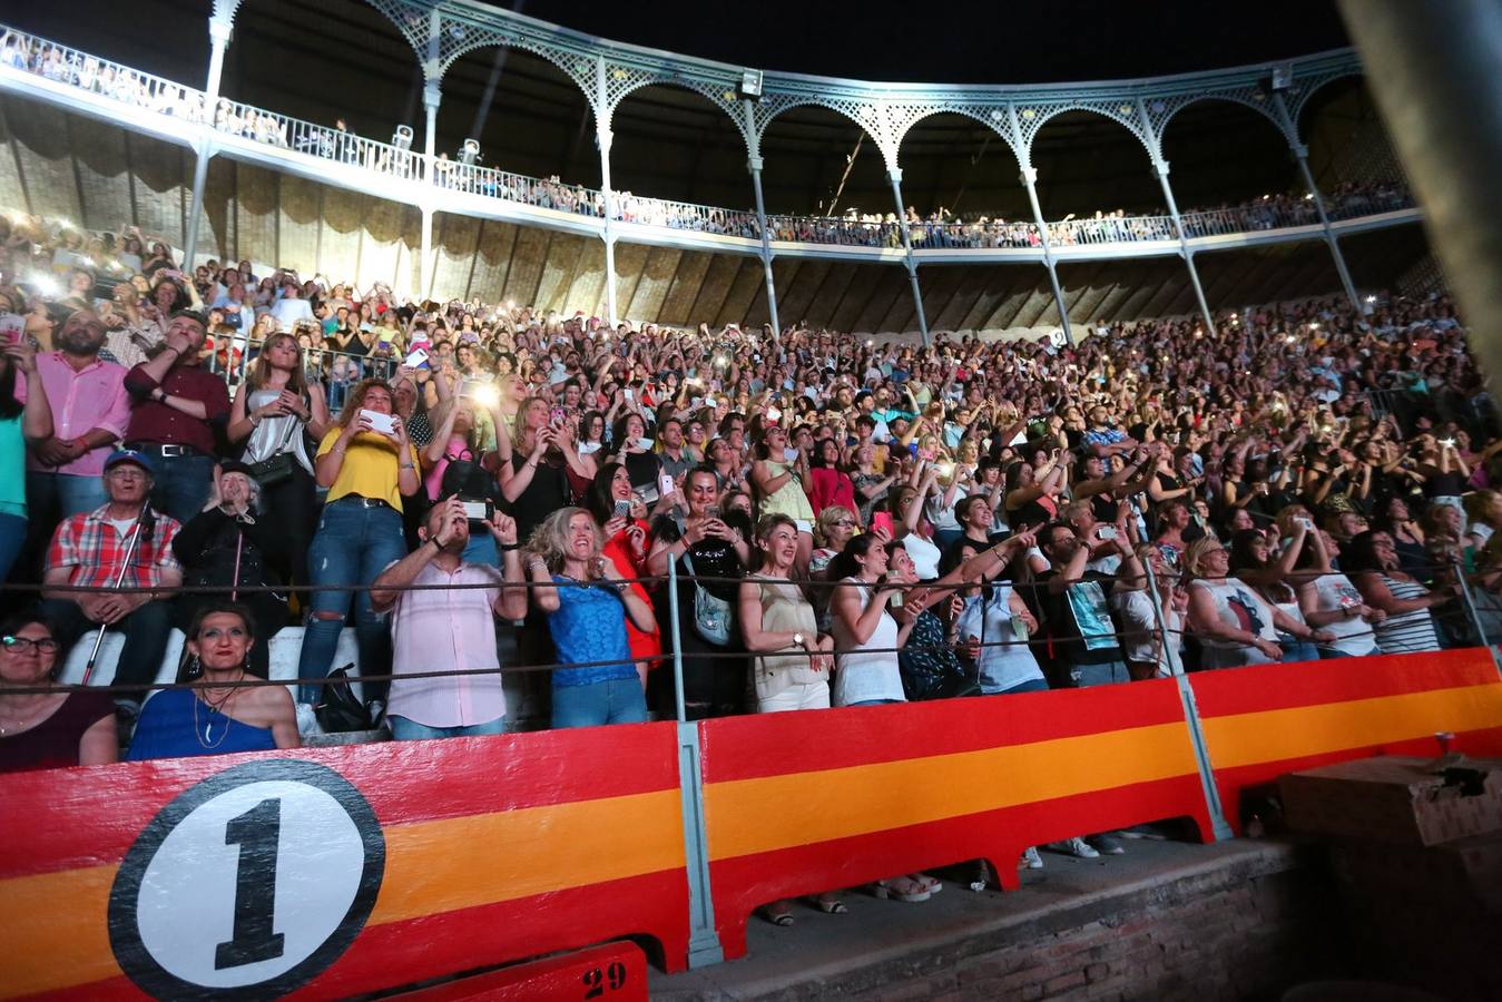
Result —
M 583 508 L 548 515 L 527 542 L 527 571 L 539 584 L 532 601 L 547 616 L 559 664 L 589 665 L 553 670 L 553 727 L 644 721 L 626 617 L 641 631 L 656 623 L 652 607 L 601 556 L 593 517 Z

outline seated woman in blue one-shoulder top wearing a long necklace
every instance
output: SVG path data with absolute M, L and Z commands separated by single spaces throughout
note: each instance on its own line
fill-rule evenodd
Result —
M 146 700 L 126 760 L 300 747 L 287 690 L 240 685 L 251 678 L 254 643 L 255 620 L 245 605 L 215 602 L 200 608 L 188 625 L 188 658 L 177 682 L 204 685 L 162 690 Z

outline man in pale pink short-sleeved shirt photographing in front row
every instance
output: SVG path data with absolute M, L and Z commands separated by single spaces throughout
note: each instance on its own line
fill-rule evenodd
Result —
M 464 563 L 472 527 L 496 538 L 505 574 L 488 563 Z M 418 536 L 422 544 L 382 571 L 371 586 L 371 605 L 377 611 L 392 611 L 392 675 L 398 678 L 391 684 L 386 708 L 391 736 L 413 741 L 503 735 L 506 696 L 496 655 L 496 616 L 523 619 L 527 614 L 517 521 L 500 512 L 488 521 L 470 521 L 464 517 L 464 502 L 449 497 L 428 511 Z M 449 587 L 401 590 L 409 584 Z M 452 587 L 455 584 L 488 587 Z M 446 669 L 485 673 L 400 678 Z

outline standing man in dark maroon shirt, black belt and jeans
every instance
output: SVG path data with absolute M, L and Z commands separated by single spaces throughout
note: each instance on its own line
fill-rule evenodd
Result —
M 135 400 L 126 448 L 146 455 L 155 475 L 152 503 L 177 521 L 209 500 L 215 430 L 230 418 L 224 380 L 198 365 L 206 335 L 203 314 L 179 309 L 167 326 L 167 347 L 125 376 Z

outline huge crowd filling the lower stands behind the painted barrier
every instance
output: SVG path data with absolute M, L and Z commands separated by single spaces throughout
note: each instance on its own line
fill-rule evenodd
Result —
M 674 649 L 703 718 L 1433 650 L 1502 611 L 1497 415 L 1445 297 L 919 347 L 188 272 L 38 219 L 0 248 L 6 685 L 105 626 L 146 687 L 177 626 L 183 678 L 227 682 L 173 727 L 315 733 L 345 623 L 395 676 L 366 723 L 425 738 L 515 727 L 529 665 L 565 727 L 671 715 Z M 296 700 L 237 714 L 209 665 L 264 676 L 294 623 Z M 0 690 L 0 748 L 72 720 L 45 760 L 90 760 L 104 718 L 51 699 Z

